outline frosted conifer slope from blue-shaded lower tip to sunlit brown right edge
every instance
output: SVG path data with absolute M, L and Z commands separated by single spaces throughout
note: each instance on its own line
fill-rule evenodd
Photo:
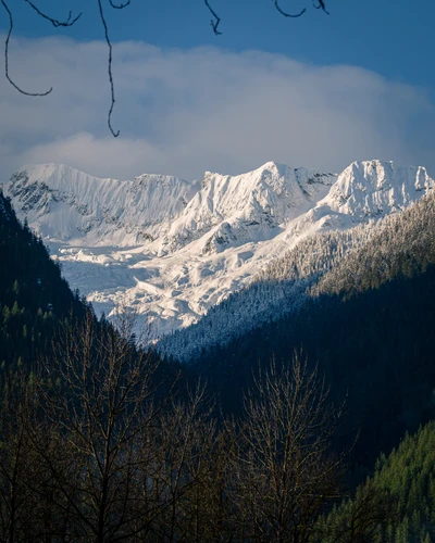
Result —
M 299 312 L 312 295 L 364 291 L 389 278 L 424 270 L 434 262 L 434 202 L 428 193 L 377 223 L 300 241 L 198 324 L 162 338 L 161 351 L 192 362 L 212 345 L 222 348 L 256 327 Z

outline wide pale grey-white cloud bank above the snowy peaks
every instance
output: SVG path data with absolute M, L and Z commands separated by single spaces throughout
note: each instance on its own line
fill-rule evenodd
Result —
M 237 173 L 269 160 L 340 171 L 353 160 L 420 163 L 435 172 L 435 109 L 420 89 L 355 66 L 282 55 L 116 43 L 113 139 L 103 42 L 17 40 L 0 78 L 0 172 L 62 162 L 90 174 L 185 178 Z

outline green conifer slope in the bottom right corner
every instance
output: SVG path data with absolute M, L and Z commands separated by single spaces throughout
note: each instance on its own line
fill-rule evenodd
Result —
M 407 435 L 388 456 L 381 455 L 374 475 L 356 495 L 323 519 L 321 541 L 431 543 L 435 539 L 434 473 L 432 421 Z

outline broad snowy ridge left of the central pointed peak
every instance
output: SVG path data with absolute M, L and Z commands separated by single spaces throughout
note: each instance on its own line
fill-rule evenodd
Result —
M 84 245 L 153 240 L 178 216 L 196 186 L 170 176 L 99 179 L 67 166 L 25 166 L 4 185 L 20 215 L 44 239 Z

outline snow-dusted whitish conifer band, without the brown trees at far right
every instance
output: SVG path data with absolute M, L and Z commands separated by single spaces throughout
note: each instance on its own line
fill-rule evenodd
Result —
M 378 225 L 381 228 L 382 225 Z M 297 312 L 315 285 L 349 251 L 374 235 L 374 222 L 341 231 L 316 233 L 258 273 L 250 285 L 212 306 L 197 324 L 164 336 L 160 352 L 191 363 L 213 345 L 220 348 L 260 325 Z

